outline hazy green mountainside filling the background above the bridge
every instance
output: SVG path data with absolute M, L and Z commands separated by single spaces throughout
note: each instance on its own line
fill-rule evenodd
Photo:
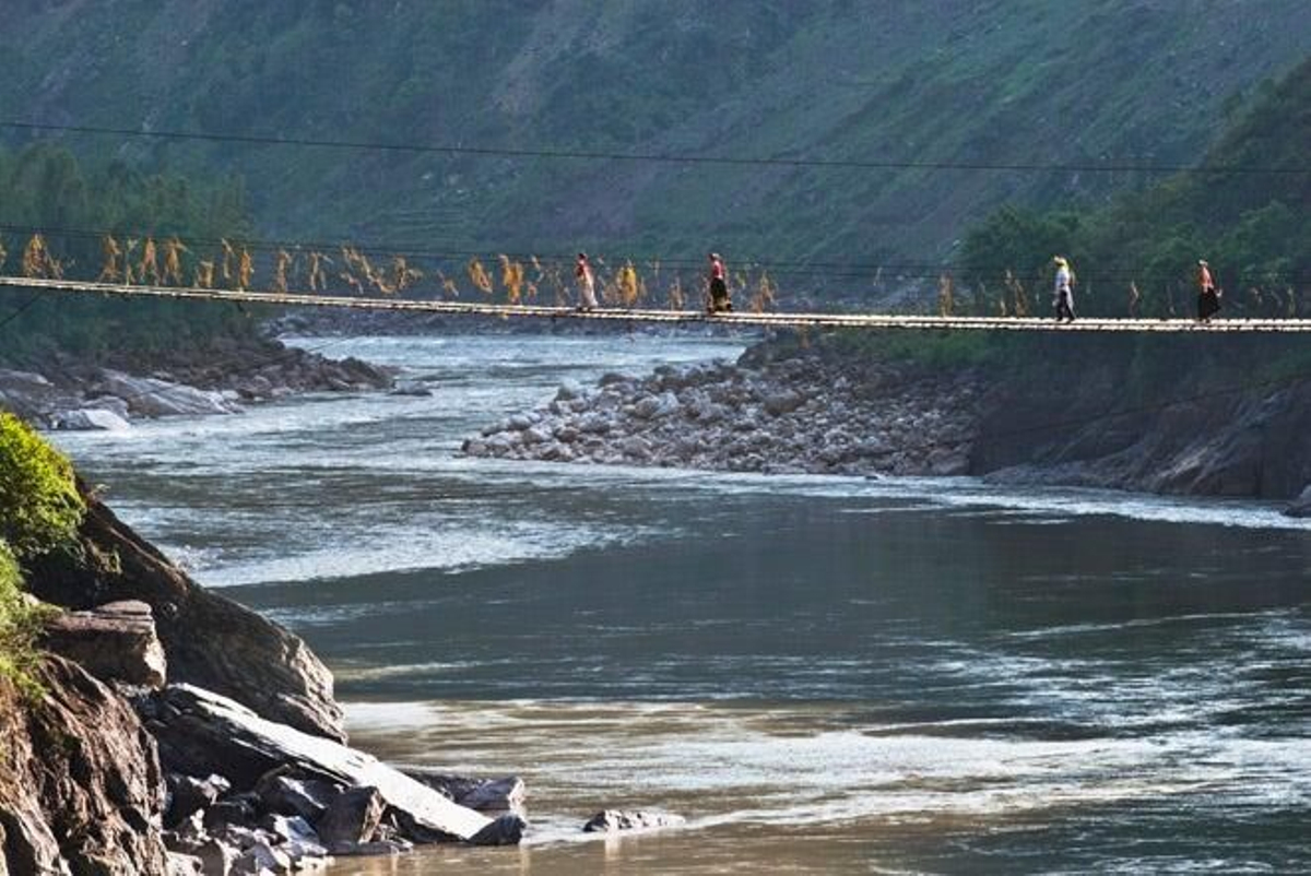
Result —
M 7 7 L 7 121 L 889 164 L 1189 164 L 1304 56 L 1311 28 L 1303 0 Z M 1002 203 L 1099 203 L 1158 178 L 64 136 L 79 155 L 240 174 L 270 235 L 488 253 L 696 258 L 713 245 L 919 264 Z

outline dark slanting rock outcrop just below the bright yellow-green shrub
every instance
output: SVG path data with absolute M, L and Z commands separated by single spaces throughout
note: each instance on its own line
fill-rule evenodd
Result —
M 169 679 L 229 696 L 261 717 L 345 741 L 332 674 L 298 636 L 197 585 L 88 497 L 77 556 L 47 555 L 29 586 L 67 608 L 140 599 L 153 608 Z

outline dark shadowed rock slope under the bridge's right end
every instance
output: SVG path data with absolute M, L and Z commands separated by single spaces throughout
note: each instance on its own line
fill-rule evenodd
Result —
M 1262 371 L 1252 338 L 1177 340 L 1146 366 L 1125 346 L 1049 345 L 1032 367 L 1050 379 L 992 386 L 971 473 L 1265 500 L 1311 484 L 1311 375 Z

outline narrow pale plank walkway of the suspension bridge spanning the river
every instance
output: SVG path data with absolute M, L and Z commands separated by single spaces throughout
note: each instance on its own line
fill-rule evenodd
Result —
M 585 311 L 566 306 L 544 304 L 498 304 L 493 302 L 406 299 L 400 296 L 370 298 L 323 292 L 237 291 L 227 289 L 0 277 L 0 289 L 4 287 L 21 289 L 51 296 L 100 295 L 125 299 L 227 302 L 229 304 L 267 304 L 274 307 L 332 307 L 354 311 L 444 313 L 450 316 L 482 316 L 506 320 L 579 320 L 623 324 L 701 324 L 742 328 L 855 328 L 880 330 L 1311 333 L 1311 319 L 1295 317 L 1215 319 L 1209 323 L 1200 323 L 1193 319 L 1080 317 L 1074 323 L 1057 323 L 1051 317 L 1023 316 L 926 316 L 914 313 L 791 311 L 707 313 L 705 311 L 692 309 L 627 307 L 598 307 Z

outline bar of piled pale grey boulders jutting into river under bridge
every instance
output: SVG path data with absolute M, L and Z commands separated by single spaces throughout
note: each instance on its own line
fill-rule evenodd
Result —
M 464 442 L 475 456 L 840 475 L 962 475 L 981 383 L 818 358 L 610 374 Z

